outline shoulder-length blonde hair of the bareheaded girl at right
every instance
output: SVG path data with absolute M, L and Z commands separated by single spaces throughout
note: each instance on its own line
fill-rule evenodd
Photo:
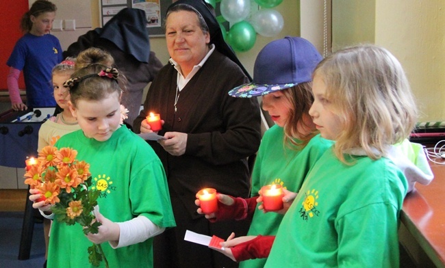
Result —
M 344 153 L 357 147 L 379 159 L 414 129 L 414 97 L 400 62 L 386 49 L 372 44 L 342 49 L 323 59 L 314 77 L 325 82 L 342 122 L 333 147 L 340 161 L 346 163 Z

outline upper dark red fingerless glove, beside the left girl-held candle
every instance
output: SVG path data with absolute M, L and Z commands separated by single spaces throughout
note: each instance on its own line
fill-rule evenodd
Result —
M 209 219 L 210 222 L 220 222 L 228 219 L 236 219 L 237 221 L 240 221 L 246 219 L 248 215 L 253 215 L 257 206 L 257 198 L 244 199 L 234 198 L 233 196 L 229 197 L 233 199 L 233 204 L 228 206 L 218 200 L 218 211 L 215 213 L 216 217 Z

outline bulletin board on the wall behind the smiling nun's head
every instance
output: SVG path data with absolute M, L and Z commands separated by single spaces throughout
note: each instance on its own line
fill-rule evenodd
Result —
M 175 0 L 101 0 L 99 8 L 101 14 L 101 26 L 124 8 L 139 8 L 144 10 L 147 16 L 147 28 L 150 37 L 164 36 L 162 18 L 164 18 L 168 6 Z

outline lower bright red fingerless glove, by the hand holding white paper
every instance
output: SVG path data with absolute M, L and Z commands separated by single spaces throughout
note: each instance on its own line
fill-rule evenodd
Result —
M 233 257 L 237 262 L 254 258 L 267 258 L 274 240 L 275 236 L 267 235 L 263 237 L 259 235 L 251 241 L 231 247 Z

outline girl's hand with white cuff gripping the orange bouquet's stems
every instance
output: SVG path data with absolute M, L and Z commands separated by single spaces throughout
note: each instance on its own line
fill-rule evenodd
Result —
M 107 241 L 119 241 L 120 228 L 119 225 L 110 221 L 106 217 L 103 217 L 99 211 L 94 212 L 97 222 L 102 225 L 99 226 L 99 232 L 97 234 L 89 233 L 86 235 L 88 240 L 92 243 L 100 244 Z

